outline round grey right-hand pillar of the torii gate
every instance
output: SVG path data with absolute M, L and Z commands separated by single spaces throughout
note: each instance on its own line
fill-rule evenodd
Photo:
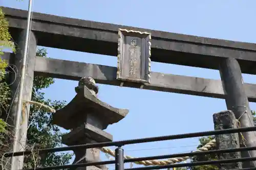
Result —
M 240 65 L 236 59 L 223 59 L 220 63 L 220 75 L 225 92 L 227 110 L 232 110 L 239 119 L 242 128 L 253 127 L 253 117 L 245 93 Z M 242 132 L 245 140 L 240 136 L 240 147 L 255 147 L 256 133 Z M 256 157 L 256 151 L 241 152 L 242 158 Z M 256 167 L 256 161 L 243 162 L 243 168 Z

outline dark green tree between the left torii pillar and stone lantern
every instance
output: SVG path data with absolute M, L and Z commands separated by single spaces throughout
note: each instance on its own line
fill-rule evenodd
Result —
M 47 53 L 45 49 L 37 51 L 37 56 L 46 57 L 46 55 Z M 51 101 L 50 99 L 45 99 L 45 93 L 40 92 L 41 89 L 45 89 L 53 83 L 54 80 L 52 78 L 35 76 L 32 101 L 51 106 L 55 110 L 62 108 L 65 105 L 65 101 Z M 51 118 L 52 113 L 49 113 L 43 108 L 39 109 L 38 106 L 31 105 L 27 135 L 28 149 L 35 150 L 41 148 L 61 147 L 61 135 L 63 135 L 63 133 L 60 132 L 60 129 L 56 125 L 51 125 Z M 35 153 L 35 155 L 37 154 Z M 24 166 L 26 168 L 32 168 L 34 165 L 63 165 L 68 164 L 71 157 L 72 154 L 70 153 L 48 153 L 46 155 L 37 155 L 37 159 L 30 155 L 25 158 Z

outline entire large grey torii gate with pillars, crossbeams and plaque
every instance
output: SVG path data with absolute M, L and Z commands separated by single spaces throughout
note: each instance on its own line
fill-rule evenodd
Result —
M 12 8 L 3 8 L 3 11 L 10 23 L 13 39 L 18 43 L 18 46 L 22 47 L 24 35 L 22 30 L 26 26 L 27 11 Z M 242 127 L 253 126 L 248 101 L 256 101 L 256 85 L 243 83 L 241 72 L 256 74 L 254 67 L 256 64 L 255 44 L 174 34 L 41 13 L 33 13 L 31 29 L 27 86 L 25 85 L 27 99 L 31 97 L 34 73 L 69 80 L 79 80 L 85 76 L 92 77 L 101 84 L 225 99 L 227 108 L 234 112 L 236 118 L 242 116 L 240 119 Z M 127 61 L 131 58 L 127 52 L 124 52 L 125 50 L 118 50 L 120 45 L 130 48 L 132 44 L 127 44 L 128 41 L 130 42 L 127 39 L 131 37 L 138 39 L 138 49 L 141 53 L 138 55 L 141 63 L 138 66 L 140 79 L 129 75 L 131 70 L 127 71 L 127 68 L 130 68 L 127 66 L 129 64 Z M 151 39 L 150 45 L 146 45 L 148 39 Z M 119 67 L 36 57 L 36 45 L 119 56 Z M 151 55 L 146 58 L 145 54 L 147 51 L 149 54 L 149 50 L 151 50 Z M 18 68 L 20 56 L 20 52 L 18 52 L 14 58 L 14 63 Z M 10 58 L 10 54 L 5 54 L 5 58 Z M 221 72 L 222 81 L 151 72 L 150 62 L 147 62 L 150 60 L 218 69 Z M 120 64 L 120 61 L 124 65 Z M 122 79 L 119 74 L 123 74 L 124 78 Z M 16 86 L 17 84 L 14 83 L 12 88 L 16 89 Z M 26 125 L 22 130 L 24 133 L 26 133 L 25 129 L 27 129 Z M 256 145 L 256 136 L 253 132 L 244 133 L 244 136 L 247 138 L 247 147 Z M 244 153 L 243 156 L 246 157 L 246 155 L 248 153 Z M 256 151 L 250 151 L 250 155 L 256 156 Z

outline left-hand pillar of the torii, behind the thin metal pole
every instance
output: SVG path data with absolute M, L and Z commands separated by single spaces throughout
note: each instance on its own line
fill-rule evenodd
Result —
M 8 78 L 12 84 L 10 85 L 11 89 L 11 99 L 13 100 L 13 103 L 11 103 L 11 108 L 9 111 L 9 114 L 2 115 L 2 118 L 6 120 L 8 125 L 10 125 L 8 130 L 10 131 L 10 134 L 14 135 L 14 129 L 15 129 L 15 117 L 17 114 L 17 99 L 18 99 L 18 90 L 19 90 L 19 82 L 20 82 L 20 76 L 21 76 L 21 70 L 22 70 L 22 64 L 23 64 L 23 54 L 24 54 L 24 47 L 25 47 L 25 38 L 26 37 L 26 30 L 23 30 L 19 33 L 19 36 L 17 39 L 15 39 L 15 42 L 17 42 L 16 46 L 16 54 L 11 54 L 9 56 L 10 60 L 9 63 L 15 65 L 14 70 L 17 72 L 13 72 L 10 74 L 10 77 Z M 29 39 L 29 49 L 28 49 L 28 58 L 27 58 L 27 68 L 26 68 L 26 76 L 25 76 L 25 84 L 24 84 L 24 93 L 23 93 L 23 100 L 30 101 L 31 95 L 32 95 L 32 88 L 33 88 L 33 79 L 34 79 L 34 62 L 35 62 L 35 56 L 36 56 L 36 37 L 34 33 L 30 32 L 30 39 Z M 20 124 L 19 128 L 19 138 L 18 140 L 16 151 L 25 151 L 26 150 L 26 140 L 27 140 L 27 129 L 28 129 L 28 118 L 29 118 L 29 111 L 30 111 L 30 105 L 26 104 L 25 109 L 23 109 L 22 113 L 22 120 L 18 123 Z M 11 143 L 11 149 L 12 149 L 12 138 L 7 139 Z M 10 152 L 12 150 L 10 149 Z M 15 162 L 15 168 L 14 169 L 22 169 L 23 168 L 23 162 L 24 162 L 24 156 L 17 156 L 13 157 L 13 159 L 16 159 Z M 10 162 L 9 162 L 10 163 Z M 9 165 L 7 165 L 9 166 Z

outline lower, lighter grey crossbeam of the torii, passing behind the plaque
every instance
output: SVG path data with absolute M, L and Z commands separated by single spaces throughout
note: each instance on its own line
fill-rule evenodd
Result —
M 5 53 L 3 56 L 4 59 L 8 60 L 9 55 L 10 53 Z M 116 79 L 117 68 L 112 66 L 36 57 L 34 70 L 35 75 L 44 77 L 78 81 L 81 77 L 86 76 L 92 77 L 100 84 L 119 86 L 121 83 Z M 123 86 L 134 88 L 141 87 L 140 84 L 132 82 L 125 82 Z M 250 102 L 256 102 L 256 85 L 245 83 L 244 88 L 248 100 Z M 144 85 L 143 89 L 220 99 L 225 98 L 220 80 L 163 74 L 161 72 L 151 72 L 151 83 Z

